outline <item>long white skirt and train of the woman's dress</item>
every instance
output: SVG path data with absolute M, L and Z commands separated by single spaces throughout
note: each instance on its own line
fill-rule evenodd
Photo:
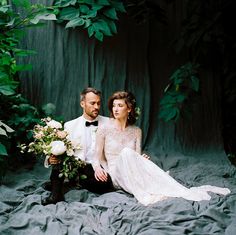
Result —
M 115 186 L 133 194 L 144 205 L 182 197 L 187 200 L 210 200 L 207 192 L 227 195 L 228 188 L 211 185 L 187 188 L 152 161 L 142 157 L 130 148 L 124 148 L 116 159 L 115 168 L 110 172 Z

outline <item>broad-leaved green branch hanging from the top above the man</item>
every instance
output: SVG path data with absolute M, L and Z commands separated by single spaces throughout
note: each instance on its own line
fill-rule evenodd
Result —
M 115 21 L 118 13 L 125 12 L 122 1 L 118 0 L 56 0 L 59 22 L 66 21 L 65 28 L 83 27 L 89 37 L 103 41 L 105 36 L 117 33 Z

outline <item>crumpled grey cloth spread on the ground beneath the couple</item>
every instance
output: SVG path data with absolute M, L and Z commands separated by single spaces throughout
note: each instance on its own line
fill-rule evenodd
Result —
M 50 169 L 38 161 L 33 170 L 9 172 L 0 186 L 0 234 L 236 234 L 236 172 L 223 153 L 153 156 L 185 186 L 211 184 L 231 194 L 211 194 L 210 201 L 169 198 L 143 206 L 123 191 L 96 195 L 84 189 L 65 194 L 66 202 L 42 206 L 50 192 L 42 185 Z

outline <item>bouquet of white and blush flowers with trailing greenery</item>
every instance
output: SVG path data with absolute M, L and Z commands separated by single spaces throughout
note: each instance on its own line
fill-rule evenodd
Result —
M 78 169 L 86 165 L 84 161 L 74 158 L 74 152 L 81 149 L 80 143 L 68 139 L 68 133 L 60 122 L 49 117 L 41 119 L 41 123 L 34 126 L 33 137 L 33 142 L 20 146 L 21 152 L 27 151 L 46 156 L 45 166 L 51 155 L 56 156 L 62 163 L 60 177 L 74 178 Z

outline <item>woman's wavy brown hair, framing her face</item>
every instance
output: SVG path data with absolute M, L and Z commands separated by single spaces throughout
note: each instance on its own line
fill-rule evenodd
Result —
M 128 116 L 128 125 L 133 125 L 136 122 L 136 99 L 134 95 L 131 92 L 126 91 L 117 91 L 115 92 L 108 100 L 108 109 L 110 111 L 110 116 L 114 118 L 112 107 L 113 107 L 113 101 L 114 100 L 125 100 L 125 103 L 127 106 L 131 109 L 129 116 Z

